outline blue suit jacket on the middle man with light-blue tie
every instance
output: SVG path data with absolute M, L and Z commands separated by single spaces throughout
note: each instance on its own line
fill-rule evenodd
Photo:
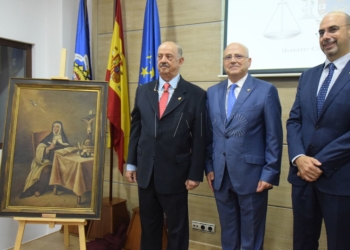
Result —
M 220 189 L 225 164 L 239 194 L 255 193 L 259 180 L 278 185 L 282 123 L 277 89 L 248 75 L 226 120 L 227 84 L 224 80 L 207 91 L 206 173 L 214 171 L 214 189 Z

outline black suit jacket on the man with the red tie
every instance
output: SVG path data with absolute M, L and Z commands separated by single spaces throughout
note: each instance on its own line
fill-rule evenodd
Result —
M 203 180 L 206 92 L 180 77 L 159 119 L 157 89 L 158 81 L 137 88 L 127 163 L 137 166 L 139 187 L 154 174 L 157 192 L 178 193 L 187 179 Z

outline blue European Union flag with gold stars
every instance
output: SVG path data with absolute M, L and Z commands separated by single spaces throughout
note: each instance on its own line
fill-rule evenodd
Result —
M 156 0 L 147 0 L 143 22 L 139 85 L 158 78 L 157 54 L 160 28 Z

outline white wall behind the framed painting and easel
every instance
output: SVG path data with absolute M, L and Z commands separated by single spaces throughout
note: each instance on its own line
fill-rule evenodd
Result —
M 67 49 L 65 75 L 71 78 L 79 0 L 0 0 L 0 6 L 0 37 L 33 44 L 33 78 L 59 75 L 62 48 Z M 14 246 L 17 227 L 12 218 L 0 218 L 0 250 Z M 23 242 L 53 230 L 46 225 L 28 225 Z

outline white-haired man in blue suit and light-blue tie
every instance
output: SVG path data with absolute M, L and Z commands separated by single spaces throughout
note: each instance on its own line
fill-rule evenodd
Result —
M 223 250 L 263 249 L 268 189 L 279 184 L 281 105 L 276 87 L 248 74 L 248 49 L 224 51 L 228 79 L 207 92 L 205 171 L 214 191 Z

